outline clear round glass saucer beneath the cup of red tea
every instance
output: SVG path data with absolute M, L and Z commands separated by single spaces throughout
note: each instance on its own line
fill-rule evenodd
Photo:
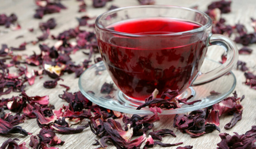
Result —
M 220 63 L 205 58 L 203 66 L 201 67 L 201 71 L 208 72 L 218 66 L 220 66 Z M 110 94 L 100 93 L 101 86 L 105 82 L 113 83 L 103 62 L 99 62 L 86 69 L 82 73 L 79 78 L 78 84 L 79 89 L 83 93 L 83 95 L 99 106 L 130 114 L 153 114 L 151 111 L 149 111 L 149 108 L 142 108 L 140 110 L 136 110 L 141 102 L 134 103 L 128 100 L 127 97 L 117 88 L 115 84 L 115 90 L 112 90 Z M 163 112 L 161 114 L 164 115 L 185 113 L 211 106 L 226 98 L 230 93 L 232 93 L 232 91 L 235 89 L 235 86 L 236 77 L 234 73 L 230 71 L 230 73 L 228 73 L 227 75 L 222 76 L 221 78 L 214 80 L 210 83 L 195 87 L 189 87 L 179 97 L 187 98 L 192 94 L 194 95 L 194 97 L 190 99 L 189 102 L 194 100 L 202 100 L 201 102 L 194 103 L 193 105 L 183 104 L 180 108 L 176 109 L 163 109 Z M 219 92 L 219 94 L 211 95 L 210 91 Z

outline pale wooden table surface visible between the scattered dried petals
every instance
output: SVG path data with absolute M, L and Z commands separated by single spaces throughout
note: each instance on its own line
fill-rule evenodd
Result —
M 95 9 L 92 7 L 92 0 L 85 0 L 87 4 L 86 12 L 78 13 L 78 2 L 75 0 L 63 0 L 62 3 L 68 7 L 68 9 L 61 10 L 60 13 L 45 15 L 43 19 L 34 19 L 33 14 L 35 13 L 36 5 L 33 0 L 0 0 L 0 14 L 6 13 L 11 14 L 15 13 L 18 16 L 18 22 L 21 25 L 20 30 L 12 31 L 10 29 L 4 28 L 0 26 L 0 45 L 5 43 L 9 47 L 14 46 L 18 47 L 24 41 L 31 41 L 36 39 L 37 36 L 41 35 L 41 31 L 38 28 L 39 22 L 45 22 L 49 18 L 55 18 L 57 20 L 57 27 L 55 29 L 50 30 L 52 35 L 58 35 L 62 31 L 74 28 L 78 25 L 76 17 L 81 17 L 83 15 L 89 15 L 91 17 L 96 17 L 101 13 L 107 11 L 107 8 L 114 4 L 119 7 L 123 6 L 130 6 L 130 5 L 138 5 L 137 0 L 113 0 L 107 3 L 106 7 Z M 207 6 L 209 5 L 210 1 L 205 0 L 156 0 L 156 4 L 164 4 L 164 5 L 178 5 L 178 6 L 185 6 L 185 7 L 193 7 L 198 5 L 198 9 L 205 11 Z M 231 4 L 231 13 L 223 14 L 222 17 L 226 19 L 226 23 L 230 25 L 235 25 L 238 22 L 245 24 L 247 30 L 249 32 L 253 32 L 254 30 L 250 26 L 251 20 L 250 18 L 256 18 L 256 4 L 255 0 L 233 0 Z M 33 27 L 35 31 L 30 33 L 28 28 Z M 23 38 L 16 39 L 17 36 L 22 35 Z M 233 38 L 233 37 L 232 37 Z M 47 39 L 41 43 L 46 43 L 49 46 L 54 44 L 54 40 Z M 238 49 L 242 47 L 241 44 L 237 44 Z M 241 55 L 239 56 L 239 60 L 244 61 L 247 63 L 250 71 L 255 71 L 255 64 L 256 64 L 256 44 L 252 44 L 249 46 L 250 48 L 254 49 L 251 55 Z M 220 56 L 223 53 L 223 50 L 220 49 L 218 46 L 212 46 L 209 48 L 207 52 L 207 56 L 211 57 L 215 60 L 220 60 Z M 39 53 L 39 47 L 37 45 L 27 45 L 26 50 L 24 51 L 15 51 L 14 54 L 27 54 L 32 55 L 33 51 Z M 86 56 L 82 54 L 82 50 L 77 51 L 76 54 L 71 55 L 73 60 L 76 60 L 76 63 L 82 62 Z M 30 68 L 34 68 L 29 66 Z M 245 77 L 244 72 L 240 70 L 233 70 L 236 79 L 237 85 L 235 90 L 239 97 L 245 95 L 245 99 L 242 101 L 242 105 L 244 107 L 242 120 L 239 121 L 235 127 L 231 128 L 230 130 L 225 130 L 224 125 L 227 124 L 232 116 L 221 116 L 220 118 L 220 129 L 221 133 L 226 132 L 229 134 L 233 134 L 233 132 L 238 132 L 239 134 L 245 133 L 247 130 L 251 129 L 252 125 L 256 123 L 256 115 L 255 115 L 255 105 L 256 105 L 256 90 L 251 89 L 249 86 L 244 84 Z M 70 87 L 69 92 L 77 92 L 79 91 L 78 88 L 78 78 L 75 78 L 75 74 L 65 74 L 61 78 L 64 79 L 61 84 L 68 85 Z M 58 97 L 59 94 L 63 93 L 64 88 L 61 86 L 57 86 L 54 89 L 46 89 L 43 87 L 43 83 L 47 80 L 51 80 L 48 76 L 44 76 L 42 79 L 38 77 L 35 80 L 35 84 L 32 86 L 26 87 L 26 93 L 29 96 L 35 95 L 49 95 L 50 104 L 55 106 L 55 109 L 59 109 L 62 107 L 63 104 L 67 105 L 65 101 Z M 223 84 L 225 85 L 225 84 Z M 10 93 L 7 95 L 2 95 L 1 98 L 11 98 L 13 95 L 16 96 L 19 93 Z M 184 134 L 178 131 L 176 128 L 173 128 L 173 119 L 174 115 L 163 115 L 160 116 L 160 121 L 155 123 L 155 130 L 169 128 L 172 129 L 175 134 L 177 135 L 176 138 L 171 136 L 166 136 L 163 138 L 163 143 L 178 143 L 183 142 L 181 146 L 185 145 L 193 145 L 193 148 L 216 148 L 217 143 L 221 141 L 219 137 L 219 132 L 214 131 L 212 133 L 204 134 L 198 138 L 191 138 L 189 134 Z M 84 120 L 82 124 L 86 124 L 87 120 Z M 27 130 L 28 132 L 32 132 L 34 135 L 38 134 L 40 128 L 37 126 L 36 120 L 27 120 L 27 122 L 20 124 L 23 129 Z M 62 141 L 65 141 L 63 146 L 56 146 L 59 148 L 96 148 L 96 146 L 92 146 L 95 143 L 95 139 L 98 139 L 90 130 L 90 128 L 86 128 L 82 133 L 78 134 L 71 134 L 71 135 L 63 135 L 58 134 Z M 24 137 L 21 134 L 10 134 L 5 136 L 0 136 L 0 144 L 2 144 L 8 138 L 18 138 L 20 141 L 18 144 L 25 141 L 27 143 L 27 147 L 30 142 L 30 136 Z M 108 146 L 108 148 L 114 148 L 113 146 Z M 159 146 L 155 146 L 154 148 L 163 148 Z M 176 148 L 176 147 L 170 147 Z

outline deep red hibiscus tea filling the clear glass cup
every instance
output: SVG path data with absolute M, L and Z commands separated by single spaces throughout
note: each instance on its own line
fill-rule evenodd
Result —
M 160 93 L 167 88 L 182 92 L 190 86 L 203 63 L 205 43 L 198 33 L 168 34 L 198 27 L 168 18 L 119 22 L 108 28 L 134 36 L 106 35 L 98 39 L 98 45 L 119 89 L 130 98 L 144 100 L 155 88 Z

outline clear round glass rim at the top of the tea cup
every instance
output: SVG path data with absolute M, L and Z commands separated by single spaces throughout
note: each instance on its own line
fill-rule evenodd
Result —
M 160 8 L 186 9 L 186 10 L 197 12 L 197 13 L 200 13 L 200 14 L 206 16 L 206 18 L 208 19 L 208 22 L 205 25 L 201 26 L 201 27 L 198 27 L 196 29 L 187 30 L 187 31 L 181 31 L 181 32 L 177 32 L 177 33 L 169 33 L 169 34 L 143 34 L 143 35 L 115 31 L 115 30 L 106 28 L 106 27 L 104 27 L 103 25 L 101 25 L 99 23 L 99 20 L 100 20 L 101 17 L 106 16 L 106 15 L 108 15 L 110 13 L 114 13 L 114 12 L 117 12 L 117 11 L 120 11 L 120 10 L 129 9 L 129 8 L 147 8 L 147 7 L 148 8 L 160 7 Z M 209 28 L 212 25 L 212 20 L 211 20 L 211 18 L 206 13 L 204 13 L 204 12 L 202 12 L 200 10 L 192 9 L 192 8 L 187 8 L 187 7 L 182 7 L 182 6 L 173 6 L 173 5 L 135 5 L 135 6 L 126 6 L 126 7 L 121 7 L 121 8 L 116 8 L 116 9 L 109 10 L 109 11 L 99 15 L 96 18 L 95 25 L 96 25 L 96 27 L 98 27 L 99 29 L 101 29 L 103 31 L 106 31 L 106 32 L 109 32 L 109 33 L 115 34 L 115 35 L 120 35 L 120 36 L 127 36 L 127 37 L 159 37 L 160 36 L 160 37 L 163 37 L 163 36 L 187 35 L 187 34 L 193 34 L 193 33 L 196 33 L 196 32 L 203 31 L 203 30 Z

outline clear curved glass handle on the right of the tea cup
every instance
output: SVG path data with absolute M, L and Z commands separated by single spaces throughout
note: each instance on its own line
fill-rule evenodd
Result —
M 210 34 L 207 40 L 207 46 L 219 45 L 223 47 L 227 53 L 227 60 L 221 66 L 207 72 L 199 71 L 197 77 L 192 83 L 192 86 L 203 85 L 228 73 L 233 69 L 238 61 L 238 50 L 236 44 L 228 37 L 220 34 Z

